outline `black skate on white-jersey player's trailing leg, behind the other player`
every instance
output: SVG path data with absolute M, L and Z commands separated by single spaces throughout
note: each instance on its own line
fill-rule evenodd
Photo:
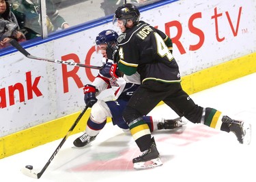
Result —
M 157 124 L 158 130 L 162 129 L 175 129 L 175 128 L 180 128 L 184 124 L 187 124 L 186 121 L 182 120 L 181 117 L 177 117 L 174 120 L 164 120 L 164 122 L 159 122 Z

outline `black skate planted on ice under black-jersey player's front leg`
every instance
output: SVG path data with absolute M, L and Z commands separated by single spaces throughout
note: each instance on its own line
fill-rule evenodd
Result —
M 156 149 L 156 143 L 154 141 L 154 137 L 152 138 L 152 143 L 150 145 L 150 148 L 143 151 L 141 156 L 134 158 L 132 160 L 132 163 L 135 169 L 154 168 L 156 166 L 162 165 L 162 161 L 159 158 L 159 152 Z

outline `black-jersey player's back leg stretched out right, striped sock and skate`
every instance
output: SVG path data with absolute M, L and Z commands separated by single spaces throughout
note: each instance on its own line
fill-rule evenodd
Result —
M 180 87 L 176 84 L 176 87 Z M 211 128 L 216 128 L 225 132 L 233 132 L 236 134 L 240 143 L 250 143 L 251 141 L 251 125 L 237 120 L 232 120 L 227 115 L 223 115 L 221 111 L 210 107 L 200 107 L 196 105 L 193 100 L 180 89 L 171 97 L 165 98 L 167 105 L 175 108 L 177 113 L 183 113 L 190 122 L 201 123 Z

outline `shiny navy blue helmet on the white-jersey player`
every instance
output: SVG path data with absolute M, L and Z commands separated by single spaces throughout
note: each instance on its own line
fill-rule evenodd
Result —
M 106 43 L 107 45 L 113 45 L 113 43 L 117 43 L 118 34 L 113 30 L 106 30 L 100 32 L 96 37 L 96 44 L 100 45 L 102 43 Z

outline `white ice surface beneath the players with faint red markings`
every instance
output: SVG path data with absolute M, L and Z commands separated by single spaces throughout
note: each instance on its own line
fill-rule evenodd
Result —
M 256 73 L 192 94 L 203 107 L 214 107 L 233 119 L 256 126 Z M 176 117 L 166 105 L 150 115 Z M 61 139 L 0 160 L 1 181 L 256 181 L 256 135 L 251 145 L 240 145 L 236 136 L 188 122 L 177 130 L 154 132 L 162 166 L 134 170 L 132 158 L 141 153 L 129 134 L 106 124 L 89 146 L 74 148 L 70 136 L 40 179 L 20 172 L 26 165 L 42 170 Z M 18 141 L 17 141 L 18 142 Z

